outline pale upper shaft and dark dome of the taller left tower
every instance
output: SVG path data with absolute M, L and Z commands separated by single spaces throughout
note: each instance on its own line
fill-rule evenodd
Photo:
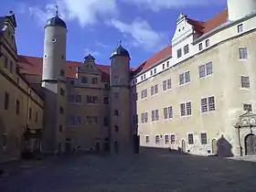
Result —
M 45 26 L 42 80 L 65 80 L 67 26 L 56 16 Z

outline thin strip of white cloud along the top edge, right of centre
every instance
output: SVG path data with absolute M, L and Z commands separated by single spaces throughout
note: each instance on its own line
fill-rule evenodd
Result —
M 223 5 L 227 0 L 122 0 L 127 4 L 149 8 L 155 12 L 161 9 L 180 8 L 184 6 Z

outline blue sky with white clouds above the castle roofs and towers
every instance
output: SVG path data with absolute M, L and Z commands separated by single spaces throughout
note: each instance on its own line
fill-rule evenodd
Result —
M 83 61 L 90 52 L 97 63 L 109 65 L 122 40 L 134 67 L 170 43 L 180 13 L 206 20 L 222 11 L 226 0 L 8 0 L 0 16 L 16 14 L 18 54 L 43 56 L 44 24 L 55 5 L 69 30 L 68 60 Z

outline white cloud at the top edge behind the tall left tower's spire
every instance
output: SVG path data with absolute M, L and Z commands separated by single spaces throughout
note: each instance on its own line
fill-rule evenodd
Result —
M 55 15 L 55 5 L 59 5 L 59 14 L 63 19 L 77 20 L 81 27 L 95 24 L 99 19 L 118 13 L 116 0 L 57 0 L 44 7 L 31 6 L 29 13 L 45 23 L 47 18 Z

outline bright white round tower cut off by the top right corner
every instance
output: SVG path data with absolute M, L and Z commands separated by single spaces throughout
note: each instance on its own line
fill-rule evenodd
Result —
M 228 0 L 229 20 L 235 21 L 256 10 L 256 0 Z

